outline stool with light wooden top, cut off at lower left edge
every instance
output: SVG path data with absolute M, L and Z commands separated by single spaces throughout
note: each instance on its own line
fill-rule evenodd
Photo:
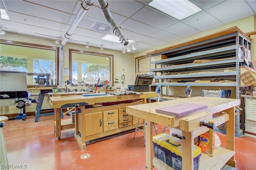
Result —
M 8 160 L 7 160 L 7 154 L 6 154 L 6 145 L 4 141 L 4 132 L 3 132 L 3 127 L 4 127 L 4 122 L 8 121 L 7 116 L 0 116 L 0 164 L 1 165 L 6 165 L 5 167 L 1 167 L 1 170 L 8 170 Z

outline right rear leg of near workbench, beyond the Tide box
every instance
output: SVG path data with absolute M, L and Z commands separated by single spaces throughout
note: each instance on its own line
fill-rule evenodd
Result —
M 226 149 L 235 150 L 235 108 L 232 107 L 227 109 L 226 112 L 229 115 L 229 120 L 227 121 L 227 129 L 226 129 L 226 140 L 227 146 Z M 229 166 L 236 167 L 235 155 L 230 158 L 230 160 L 226 163 Z

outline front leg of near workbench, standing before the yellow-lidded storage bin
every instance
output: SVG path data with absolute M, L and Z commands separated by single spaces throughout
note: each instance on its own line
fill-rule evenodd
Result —
M 182 169 L 194 169 L 194 156 L 193 156 L 194 139 L 192 132 L 182 131 Z

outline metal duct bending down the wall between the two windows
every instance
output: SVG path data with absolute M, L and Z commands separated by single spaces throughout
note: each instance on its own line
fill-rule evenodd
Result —
M 70 36 L 72 35 L 72 33 L 74 32 L 77 25 L 82 20 L 84 14 L 90 9 L 90 6 L 92 6 L 93 3 L 94 3 L 94 0 L 84 0 L 81 3 L 80 10 L 76 14 L 75 19 L 71 23 L 70 27 L 68 28 L 68 31 L 65 34 L 65 37 L 62 39 L 62 41 L 60 43 L 59 85 L 58 85 L 59 87 L 63 87 L 63 85 L 62 85 L 63 84 L 63 69 L 62 69 L 62 67 L 63 67 L 63 47 L 66 44 L 66 42 L 68 41 L 68 39 L 70 38 Z

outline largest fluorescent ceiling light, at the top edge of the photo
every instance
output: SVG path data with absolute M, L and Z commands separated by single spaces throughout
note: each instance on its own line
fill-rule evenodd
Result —
M 200 8 L 188 0 L 153 0 L 148 5 L 178 20 L 201 11 Z

